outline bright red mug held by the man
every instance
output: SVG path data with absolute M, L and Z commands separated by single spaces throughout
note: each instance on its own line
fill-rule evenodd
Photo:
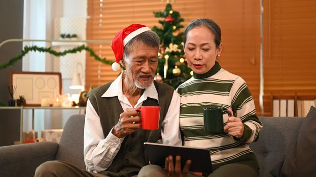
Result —
M 136 109 L 136 111 L 141 113 L 143 129 L 158 129 L 159 117 L 160 117 L 160 107 L 159 106 L 141 106 Z

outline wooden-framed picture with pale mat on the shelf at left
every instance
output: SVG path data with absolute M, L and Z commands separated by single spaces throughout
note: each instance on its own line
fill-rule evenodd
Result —
M 25 106 L 41 106 L 43 98 L 51 100 L 52 104 L 62 94 L 60 72 L 12 71 L 10 83 L 16 86 L 14 99 L 24 96 Z

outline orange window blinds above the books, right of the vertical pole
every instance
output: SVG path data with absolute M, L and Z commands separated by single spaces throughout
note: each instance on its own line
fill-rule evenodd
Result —
M 316 95 L 316 1 L 263 2 L 264 95 Z

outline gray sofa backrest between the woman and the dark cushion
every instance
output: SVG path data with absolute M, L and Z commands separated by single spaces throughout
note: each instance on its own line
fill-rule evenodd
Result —
M 304 118 L 300 117 L 259 117 L 263 128 L 259 140 L 250 144 L 256 154 L 260 167 L 260 176 L 271 176 L 269 171 L 280 161 L 284 161 L 286 154 L 291 151 L 291 145 L 297 135 Z

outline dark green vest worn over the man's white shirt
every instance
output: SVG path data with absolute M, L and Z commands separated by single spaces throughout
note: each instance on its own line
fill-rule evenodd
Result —
M 111 83 L 112 82 L 109 82 L 99 86 L 88 94 L 93 108 L 100 117 L 104 137 L 109 135 L 112 127 L 117 124 L 120 114 L 123 113 L 122 106 L 117 97 L 101 98 L 109 89 Z M 143 166 L 148 165 L 144 142 L 155 143 L 161 139 L 161 123 L 168 111 L 174 92 L 173 88 L 165 83 L 157 83 L 154 81 L 154 84 L 158 92 L 159 104 L 157 100 L 147 98 L 142 106 L 161 107 L 159 129 L 144 130 L 140 128 L 126 136 L 112 164 L 107 170 L 100 173 L 109 176 L 132 176 L 137 175 Z

